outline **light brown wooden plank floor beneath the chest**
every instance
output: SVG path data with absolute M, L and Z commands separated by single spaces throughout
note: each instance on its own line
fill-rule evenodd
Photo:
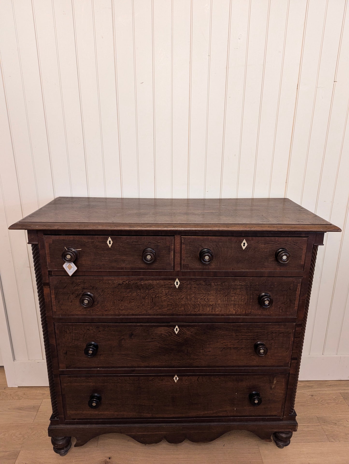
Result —
M 47 437 L 49 398 L 46 387 L 7 388 L 0 367 L 1 464 L 349 464 L 349 380 L 299 382 L 299 428 L 283 450 L 244 431 L 178 445 L 109 434 L 61 457 Z

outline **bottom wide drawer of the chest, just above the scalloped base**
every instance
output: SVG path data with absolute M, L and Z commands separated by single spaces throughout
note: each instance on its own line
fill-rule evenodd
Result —
M 288 374 L 61 375 L 65 419 L 281 417 Z M 262 402 L 253 406 L 252 392 Z M 98 393 L 99 407 L 88 406 Z

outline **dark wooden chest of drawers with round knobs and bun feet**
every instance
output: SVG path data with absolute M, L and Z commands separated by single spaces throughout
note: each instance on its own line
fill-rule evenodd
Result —
M 32 244 L 54 451 L 111 432 L 289 445 L 317 247 L 338 227 L 287 199 L 59 197 L 10 228 Z

